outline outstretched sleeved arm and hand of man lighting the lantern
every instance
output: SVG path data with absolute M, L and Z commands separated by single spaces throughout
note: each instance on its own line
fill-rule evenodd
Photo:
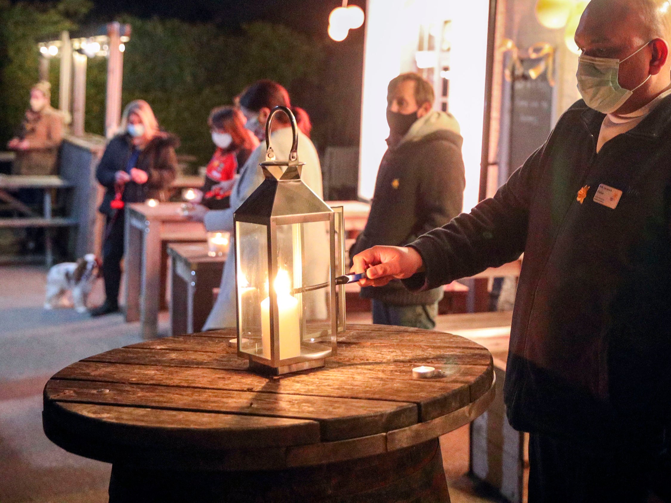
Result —
M 537 150 L 495 197 L 407 247 L 375 246 L 352 259 L 366 271 L 362 286 L 405 280 L 411 290 L 435 288 L 518 258 L 527 241 L 529 204 L 544 148 Z

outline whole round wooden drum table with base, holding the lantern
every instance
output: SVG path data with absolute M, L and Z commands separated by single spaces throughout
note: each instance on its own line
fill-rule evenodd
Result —
M 112 463 L 110 502 L 449 502 L 438 437 L 494 398 L 468 339 L 352 325 L 325 368 L 247 372 L 234 330 L 72 364 L 44 389 L 46 435 Z M 415 379 L 413 367 L 439 376 Z

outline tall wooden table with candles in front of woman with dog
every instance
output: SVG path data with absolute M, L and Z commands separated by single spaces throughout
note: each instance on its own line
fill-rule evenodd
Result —
M 183 215 L 182 204 L 125 207 L 125 319 L 139 320 L 146 339 L 156 337 L 158 311 L 165 299 L 168 243 L 207 239 L 205 225 Z

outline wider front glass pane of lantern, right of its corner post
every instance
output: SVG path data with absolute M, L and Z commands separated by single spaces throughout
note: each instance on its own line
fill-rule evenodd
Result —
M 328 219 L 329 215 L 325 218 Z M 286 297 L 286 286 L 284 292 L 276 290 L 278 312 L 285 315 L 285 310 L 295 309 L 298 315 L 296 327 L 292 325 L 287 331 L 282 331 L 280 319 L 280 359 L 327 351 L 331 348 L 334 315 L 331 309 L 329 221 L 278 225 L 276 232 L 277 277 L 289 278 L 289 294 L 293 298 Z M 291 340 L 282 343 L 282 337 L 290 337 Z M 299 354 L 295 354 L 297 343 L 300 345 Z M 282 347 L 293 349 L 287 349 L 282 354 Z

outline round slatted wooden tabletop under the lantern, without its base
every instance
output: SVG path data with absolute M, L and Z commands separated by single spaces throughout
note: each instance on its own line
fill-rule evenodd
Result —
M 423 443 L 493 400 L 491 354 L 480 345 L 405 327 L 348 328 L 325 368 L 272 378 L 246 370 L 229 345 L 232 329 L 89 357 L 48 382 L 45 431 L 95 459 L 128 459 L 134 454 L 123 446 L 141 445 L 138 459 L 162 453 L 152 463 L 167 462 L 174 449 L 194 456 L 200 449 L 217 469 L 280 469 Z M 413 379 L 421 364 L 442 375 Z M 225 460 L 242 455 L 233 449 L 267 456 L 226 468 Z

